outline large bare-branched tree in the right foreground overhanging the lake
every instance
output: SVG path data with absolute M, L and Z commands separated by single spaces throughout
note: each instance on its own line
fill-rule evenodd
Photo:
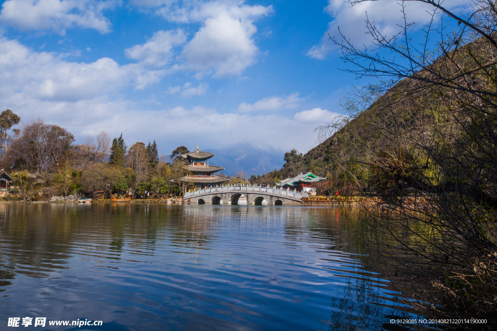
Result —
M 432 9 L 421 46 L 410 37 L 410 1 Z M 364 221 L 372 242 L 388 243 L 385 261 L 434 286 L 417 304 L 452 318 L 490 318 L 485 312 L 497 302 L 496 3 L 474 0 L 466 16 L 441 0 L 400 4 L 405 25 L 394 36 L 366 19 L 373 49 L 355 47 L 343 31 L 332 38 L 352 65 L 347 71 L 378 80 L 345 99 L 351 116 L 319 130 L 335 132 L 337 166 L 379 201 L 366 206 Z M 441 17 L 456 28 L 436 28 Z

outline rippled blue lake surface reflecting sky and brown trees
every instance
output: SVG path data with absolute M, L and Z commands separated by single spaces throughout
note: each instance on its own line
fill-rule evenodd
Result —
M 358 240 L 334 208 L 0 204 L 0 325 L 393 330 L 411 315 Z

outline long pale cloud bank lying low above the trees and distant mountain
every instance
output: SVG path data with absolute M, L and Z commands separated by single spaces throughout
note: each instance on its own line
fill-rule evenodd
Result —
M 157 141 L 159 152 L 170 153 L 177 146 L 218 148 L 227 144 L 250 141 L 259 146 L 271 145 L 283 150 L 296 148 L 306 152 L 316 145 L 314 129 L 330 122 L 301 121 L 280 114 L 249 116 L 248 114 L 221 114 L 204 107 L 166 108 L 152 111 L 144 103 L 99 96 L 93 99 L 71 101 L 37 100 L 29 95 L 15 94 L 0 99 L 1 109 L 11 109 L 21 117 L 21 123 L 41 116 L 46 123 L 67 128 L 82 143 L 88 134 L 106 130 L 112 137 L 122 132 L 126 144 L 136 141 Z M 325 113 L 326 114 L 326 113 Z M 194 119 L 194 120 L 192 120 Z M 275 125 L 277 124 L 277 125 Z M 286 132 L 299 134 L 282 134 Z M 188 132 L 188 134 L 185 134 Z

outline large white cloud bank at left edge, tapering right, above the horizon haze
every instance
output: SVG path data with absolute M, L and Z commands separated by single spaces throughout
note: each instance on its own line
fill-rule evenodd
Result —
M 17 40 L 0 38 L 0 96 L 23 95 L 38 100 L 77 101 L 115 93 L 127 86 L 142 89 L 164 72 L 101 58 L 75 63 L 65 55 L 33 52 Z

